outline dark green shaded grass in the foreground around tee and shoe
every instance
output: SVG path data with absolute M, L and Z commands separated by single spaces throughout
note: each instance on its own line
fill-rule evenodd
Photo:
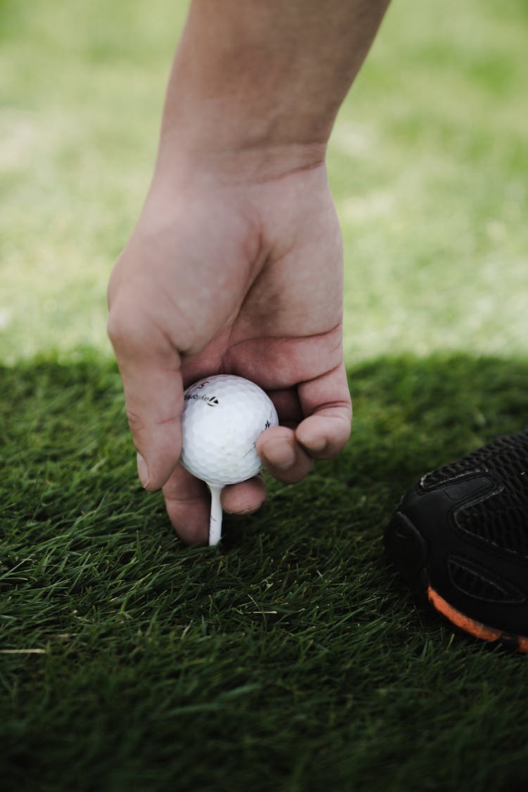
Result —
M 2 367 L 2 790 L 522 788 L 526 660 L 415 603 L 381 537 L 424 470 L 528 424 L 528 363 L 349 373 L 344 453 L 189 550 L 113 364 Z

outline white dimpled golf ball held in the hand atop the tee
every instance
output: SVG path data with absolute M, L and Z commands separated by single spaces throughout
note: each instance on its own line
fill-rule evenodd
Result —
M 214 486 L 236 484 L 261 467 L 256 439 L 279 418 L 258 385 L 234 375 L 200 379 L 184 393 L 181 462 Z

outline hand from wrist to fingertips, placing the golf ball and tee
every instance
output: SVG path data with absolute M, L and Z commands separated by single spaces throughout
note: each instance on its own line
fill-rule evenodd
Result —
M 348 440 L 341 347 L 342 247 L 325 166 L 258 181 L 154 184 L 108 287 L 108 333 L 139 452 L 186 543 L 207 543 L 209 497 L 178 462 L 183 390 L 233 373 L 268 391 L 280 426 L 257 441 L 264 467 L 300 481 Z M 230 485 L 226 512 L 253 512 L 264 479 Z

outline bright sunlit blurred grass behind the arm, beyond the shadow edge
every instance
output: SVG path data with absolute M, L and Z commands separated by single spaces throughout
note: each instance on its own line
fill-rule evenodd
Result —
M 105 337 L 186 2 L 1 0 L 0 360 Z M 397 0 L 341 109 L 348 364 L 526 354 L 524 0 Z

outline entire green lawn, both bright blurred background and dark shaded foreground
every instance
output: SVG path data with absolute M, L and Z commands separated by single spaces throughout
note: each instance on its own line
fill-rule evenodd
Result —
M 186 2 L 0 0 L 0 786 L 520 790 L 526 661 L 414 603 L 382 529 L 526 427 L 526 3 L 393 3 L 340 111 L 351 443 L 188 550 L 105 337 Z

